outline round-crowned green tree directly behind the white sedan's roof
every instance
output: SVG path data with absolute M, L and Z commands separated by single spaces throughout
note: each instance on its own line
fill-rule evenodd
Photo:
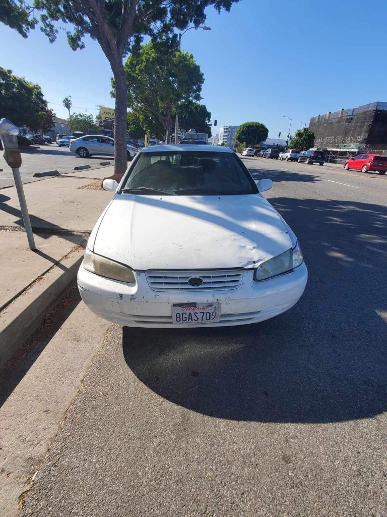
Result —
M 125 63 L 128 104 L 153 113 L 169 143 L 172 113 L 181 102 L 199 100 L 204 77 L 192 54 L 149 41 Z M 114 94 L 114 93 L 113 93 Z

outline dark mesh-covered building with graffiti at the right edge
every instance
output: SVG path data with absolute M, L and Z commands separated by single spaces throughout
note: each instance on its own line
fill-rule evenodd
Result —
M 315 147 L 331 151 L 361 149 L 387 152 L 387 102 L 373 102 L 312 117 Z

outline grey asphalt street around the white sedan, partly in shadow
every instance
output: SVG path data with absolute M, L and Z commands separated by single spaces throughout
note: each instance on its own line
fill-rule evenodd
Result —
M 387 177 L 245 162 L 303 297 L 256 325 L 112 326 L 22 515 L 386 515 Z

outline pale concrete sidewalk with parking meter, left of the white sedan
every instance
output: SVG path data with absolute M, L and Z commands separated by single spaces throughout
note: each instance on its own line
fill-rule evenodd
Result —
M 24 185 L 37 250 L 30 251 L 16 189 L 0 190 L 0 368 L 75 280 L 85 242 L 112 194 L 113 167 Z

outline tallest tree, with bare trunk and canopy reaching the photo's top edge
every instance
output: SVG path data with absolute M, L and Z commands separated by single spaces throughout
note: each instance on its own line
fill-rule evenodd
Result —
M 70 23 L 67 39 L 73 50 L 85 47 L 84 37 L 98 41 L 109 60 L 116 88 L 115 173 L 127 167 L 126 111 L 127 86 L 122 60 L 136 48 L 144 36 L 168 39 L 177 44 L 174 28 L 184 30 L 189 24 L 203 25 L 205 8 L 212 5 L 220 12 L 229 11 L 239 0 L 34 0 L 34 12 L 40 12 L 41 31 L 54 42 L 58 23 Z M 3 8 L 4 4 L 4 8 Z M 22 0 L 1 0 L 0 21 L 26 37 L 37 20 Z

